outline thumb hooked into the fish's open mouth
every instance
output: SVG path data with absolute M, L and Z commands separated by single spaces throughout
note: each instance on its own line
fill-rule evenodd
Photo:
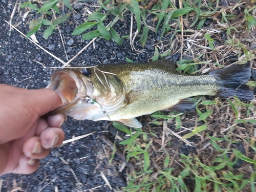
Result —
M 55 110 L 62 106 L 61 98 L 51 89 L 29 90 L 29 103 L 32 103 L 33 109 L 38 116 Z

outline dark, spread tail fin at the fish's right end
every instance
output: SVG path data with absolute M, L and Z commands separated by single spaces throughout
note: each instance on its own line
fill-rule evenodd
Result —
M 241 100 L 252 100 L 253 91 L 246 85 L 251 76 L 250 63 L 233 65 L 209 73 L 214 76 L 221 86 L 217 97 L 232 97 L 236 95 Z

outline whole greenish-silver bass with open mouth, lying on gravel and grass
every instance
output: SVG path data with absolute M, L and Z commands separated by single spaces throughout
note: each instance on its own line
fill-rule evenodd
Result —
M 178 58 L 179 54 L 174 54 L 146 63 L 55 70 L 47 88 L 54 90 L 64 105 L 52 114 L 142 127 L 136 117 L 166 109 L 183 113 L 195 110 L 194 96 L 254 98 L 246 85 L 251 76 L 250 63 L 186 74 L 175 70 Z

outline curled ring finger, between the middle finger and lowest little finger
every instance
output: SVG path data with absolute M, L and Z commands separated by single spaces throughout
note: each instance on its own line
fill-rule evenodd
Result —
M 42 159 L 50 153 L 50 150 L 41 146 L 39 137 L 31 137 L 24 143 L 23 153 L 28 158 Z

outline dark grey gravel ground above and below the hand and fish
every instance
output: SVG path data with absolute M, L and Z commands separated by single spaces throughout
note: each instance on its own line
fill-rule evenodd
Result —
M 94 3 L 93 1 L 87 2 Z M 71 36 L 71 33 L 77 24 L 83 22 L 81 14 L 84 12 L 85 6 L 94 11 L 94 7 L 90 4 L 77 5 L 76 13 L 59 26 L 68 58 L 72 58 L 89 42 L 82 41 L 80 36 Z M 2 0 L 0 5 L 0 83 L 26 89 L 45 88 L 53 71 L 50 67 L 62 66 L 62 64 L 15 30 L 9 31 L 10 27 L 4 20 L 10 20 L 15 1 Z M 17 28 L 27 34 L 28 23 L 26 23 L 27 19 L 23 22 L 23 13 L 22 9 L 20 12 L 16 10 L 12 18 L 12 24 L 20 23 Z M 30 16 L 33 19 L 34 16 Z M 125 21 L 115 25 L 114 29 L 121 36 L 129 35 L 130 20 L 131 15 L 126 15 Z M 36 37 L 39 45 L 60 59 L 67 61 L 58 30 L 47 40 L 42 38 L 42 31 L 37 32 Z M 130 39 L 123 39 L 122 46 L 118 46 L 112 40 L 98 39 L 94 43 L 95 48 L 93 45 L 89 46 L 71 65 L 84 66 L 125 62 L 125 57 L 132 59 L 134 62 L 146 62 L 154 54 L 155 47 L 153 44 L 155 44 L 155 39 L 158 36 L 151 32 L 149 37 L 151 40 L 146 42 L 144 52 L 140 54 L 131 49 Z M 139 38 L 136 38 L 134 46 L 137 50 L 142 50 L 143 48 L 138 40 Z M 46 68 L 42 67 L 40 63 L 45 65 Z M 66 123 L 63 124 L 63 130 L 66 134 L 65 139 L 95 133 L 76 142 L 55 148 L 47 158 L 41 160 L 38 170 L 33 174 L 8 174 L 0 177 L 0 181 L 3 180 L 2 191 L 11 191 L 16 187 L 21 187 L 24 191 L 56 191 L 55 187 L 59 191 L 82 191 L 94 187 L 98 187 L 95 189 L 96 191 L 113 191 L 105 184 L 100 171 L 108 178 L 113 188 L 126 186 L 126 168 L 119 173 L 118 166 L 122 161 L 118 157 L 114 158 L 111 165 L 108 164 L 112 151 L 101 140 L 103 135 L 108 135 L 112 139 L 116 135 L 117 130 L 112 125 L 106 130 L 108 123 L 107 121 L 77 121 L 68 118 Z M 65 160 L 67 164 L 61 159 Z

